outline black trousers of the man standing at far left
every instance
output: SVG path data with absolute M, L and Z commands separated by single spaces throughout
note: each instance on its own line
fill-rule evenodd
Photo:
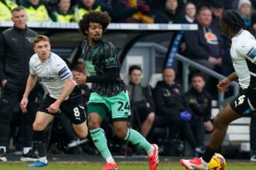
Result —
M 16 85 L 6 83 L 2 88 L 2 106 L 0 112 L 0 146 L 7 146 L 9 138 L 10 122 L 13 116 L 13 110 L 17 103 L 22 100 L 22 95 L 26 89 L 26 85 Z M 36 117 L 36 94 L 37 88 L 29 94 L 29 103 L 27 106 L 28 112 L 22 114 L 20 134 L 22 134 L 24 145 L 23 147 L 31 147 L 33 140 L 33 121 Z

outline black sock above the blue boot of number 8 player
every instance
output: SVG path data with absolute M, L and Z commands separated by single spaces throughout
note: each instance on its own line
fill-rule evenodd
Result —
M 34 144 L 40 158 L 47 156 L 47 143 L 44 131 L 34 131 Z

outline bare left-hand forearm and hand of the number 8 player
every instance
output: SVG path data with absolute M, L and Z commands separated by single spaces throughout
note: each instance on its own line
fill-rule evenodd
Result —
M 23 93 L 23 97 L 22 100 L 20 102 L 20 108 L 22 110 L 23 113 L 26 113 L 26 106 L 29 103 L 28 97 L 29 97 L 29 93 L 31 92 L 31 90 L 33 90 L 33 87 L 35 87 L 36 84 L 36 80 L 37 80 L 37 75 L 33 75 L 33 74 L 29 74 L 29 78 L 26 81 L 26 90 Z

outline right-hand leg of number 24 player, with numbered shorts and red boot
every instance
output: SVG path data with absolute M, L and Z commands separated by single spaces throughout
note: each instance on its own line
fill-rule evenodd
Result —
M 159 162 L 157 145 L 151 145 L 140 133 L 128 128 L 130 100 L 127 91 L 122 91 L 115 97 L 109 97 L 108 100 L 111 103 L 112 121 L 116 136 L 143 148 L 148 155 L 150 170 L 156 169 Z

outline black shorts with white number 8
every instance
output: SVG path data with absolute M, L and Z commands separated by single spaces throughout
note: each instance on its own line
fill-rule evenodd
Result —
M 48 112 L 47 108 L 50 106 L 50 104 L 53 104 L 55 101 L 56 99 L 47 95 L 47 97 L 45 97 L 43 103 L 40 104 L 37 110 L 47 114 L 51 114 Z M 61 112 L 68 117 L 72 124 L 81 124 L 86 121 L 85 106 L 81 96 L 64 100 L 64 102 L 62 102 L 60 106 L 60 109 Z

